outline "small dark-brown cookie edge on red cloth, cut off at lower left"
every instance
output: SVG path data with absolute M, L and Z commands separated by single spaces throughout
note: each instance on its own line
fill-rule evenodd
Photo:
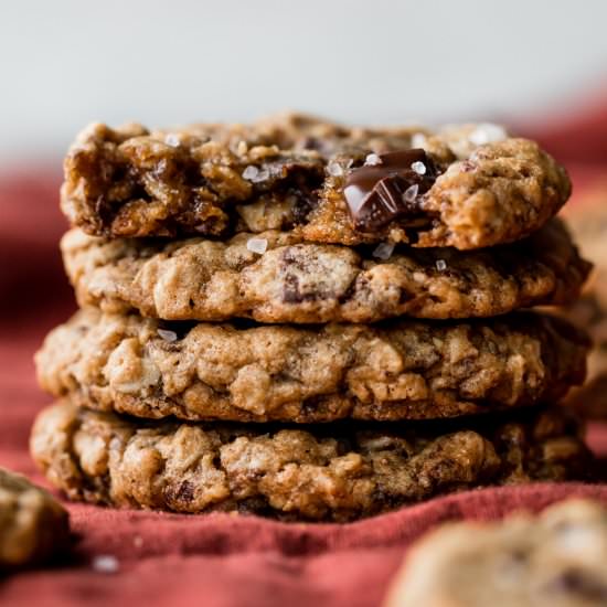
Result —
M 68 541 L 63 507 L 25 477 L 0 468 L 0 568 L 45 561 Z

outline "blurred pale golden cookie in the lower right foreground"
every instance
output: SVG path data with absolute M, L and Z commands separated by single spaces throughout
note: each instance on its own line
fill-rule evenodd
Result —
M 607 511 L 568 500 L 539 517 L 438 528 L 407 554 L 384 607 L 604 607 Z

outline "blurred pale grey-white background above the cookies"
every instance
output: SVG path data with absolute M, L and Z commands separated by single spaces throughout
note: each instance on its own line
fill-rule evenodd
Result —
M 606 0 L 19 0 L 0 4 L 0 160 L 90 120 L 558 115 L 607 76 Z

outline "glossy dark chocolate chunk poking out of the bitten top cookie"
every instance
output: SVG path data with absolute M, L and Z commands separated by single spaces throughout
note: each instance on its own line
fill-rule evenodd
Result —
M 403 215 L 418 217 L 419 196 L 439 174 L 423 149 L 383 153 L 376 160 L 376 164 L 353 169 L 343 188 L 354 227 L 360 231 L 383 227 Z M 417 162 L 418 171 L 412 168 Z

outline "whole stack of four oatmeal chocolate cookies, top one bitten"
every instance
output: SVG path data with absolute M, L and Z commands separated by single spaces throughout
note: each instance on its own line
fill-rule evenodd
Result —
M 554 404 L 588 342 L 515 312 L 589 264 L 565 171 L 493 125 L 94 125 L 65 161 L 81 311 L 36 355 L 32 452 L 70 498 L 353 520 L 579 478 Z

